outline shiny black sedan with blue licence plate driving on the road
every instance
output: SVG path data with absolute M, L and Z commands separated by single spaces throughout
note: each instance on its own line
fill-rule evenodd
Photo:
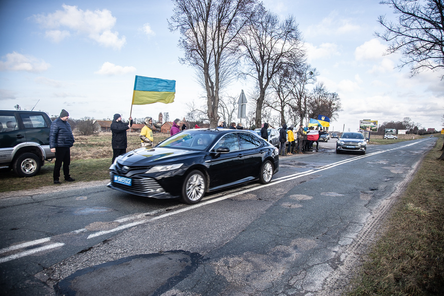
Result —
M 279 169 L 278 150 L 253 132 L 186 129 L 155 147 L 128 152 L 109 168 L 108 187 L 152 198 L 198 203 L 211 192 L 259 180 Z

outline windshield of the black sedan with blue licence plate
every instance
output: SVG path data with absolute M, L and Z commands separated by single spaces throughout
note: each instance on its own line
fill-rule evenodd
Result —
M 182 131 L 159 143 L 157 147 L 171 147 L 179 149 L 206 150 L 213 142 L 216 133 Z

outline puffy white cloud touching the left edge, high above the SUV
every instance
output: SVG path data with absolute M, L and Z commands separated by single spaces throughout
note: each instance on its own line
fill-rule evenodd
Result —
M 50 64 L 43 60 L 17 52 L 7 54 L 3 59 L 6 59 L 6 61 L 0 61 L 0 71 L 42 72 L 50 67 Z

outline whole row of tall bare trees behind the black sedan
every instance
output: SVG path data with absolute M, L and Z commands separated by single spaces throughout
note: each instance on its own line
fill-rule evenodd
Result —
M 189 120 L 234 121 L 237 98 L 223 95 L 236 78 L 254 81 L 254 104 L 247 122 L 260 126 L 271 110 L 278 124 L 303 123 L 318 114 L 335 119 L 340 98 L 316 83 L 316 69 L 306 63 L 302 36 L 292 16 L 281 21 L 257 0 L 174 0 L 171 31 L 179 31 L 181 62 L 196 69 L 206 92 L 206 106 L 189 105 Z M 254 118 L 254 119 L 252 119 Z M 274 118 L 273 118 L 274 119 Z M 277 123 L 277 122 L 276 122 Z M 276 124 L 277 125 L 277 124 Z

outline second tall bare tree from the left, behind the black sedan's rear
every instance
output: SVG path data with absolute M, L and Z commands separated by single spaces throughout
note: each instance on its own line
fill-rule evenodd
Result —
M 266 11 L 262 4 L 255 8 L 243 34 L 239 36 L 241 54 L 246 62 L 242 74 L 256 80 L 259 96 L 256 101 L 256 126 L 261 125 L 261 113 L 271 78 L 283 67 L 294 66 L 305 52 L 298 24 L 293 17 L 281 22 L 277 15 Z

